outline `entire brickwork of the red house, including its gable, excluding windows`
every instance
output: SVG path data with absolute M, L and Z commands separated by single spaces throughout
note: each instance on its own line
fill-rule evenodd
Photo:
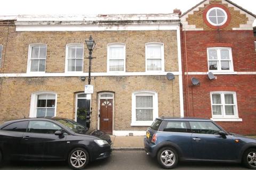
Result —
M 248 14 L 237 10 L 226 1 L 210 1 L 194 8 L 193 14 L 188 14 L 188 24 L 196 25 L 201 30 L 181 31 L 182 45 L 182 72 L 183 74 L 183 99 L 185 116 L 189 117 L 212 117 L 211 96 L 213 91 L 232 91 L 236 92 L 238 116 L 242 122 L 217 122 L 230 132 L 247 135 L 254 135 L 256 131 L 256 75 L 248 72 L 256 71 L 256 52 L 254 47 L 254 36 L 252 25 L 248 24 L 251 18 Z M 223 3 L 226 2 L 226 3 Z M 226 27 L 217 29 L 209 27 L 205 23 L 204 10 L 209 5 L 219 4 L 225 6 L 230 14 L 230 22 Z M 196 10 L 198 8 L 198 10 Z M 184 19 L 183 19 L 184 20 Z M 246 24 L 244 30 L 241 25 Z M 239 26 L 240 25 L 240 26 Z M 186 25 L 187 28 L 189 28 Z M 249 30 L 250 29 L 250 30 Z M 186 31 L 185 31 L 186 30 Z M 192 29 L 191 29 L 192 30 Z M 234 72 L 241 74 L 214 74 L 217 79 L 209 80 L 206 72 L 208 69 L 207 48 L 208 47 L 230 47 L 232 50 Z M 197 78 L 201 84 L 192 86 L 191 78 Z

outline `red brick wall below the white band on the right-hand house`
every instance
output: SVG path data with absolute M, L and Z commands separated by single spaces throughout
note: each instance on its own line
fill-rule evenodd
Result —
M 184 109 L 189 117 L 211 118 L 211 97 L 213 91 L 236 92 L 238 116 L 243 122 L 217 122 L 229 132 L 246 135 L 255 135 L 256 124 L 256 75 L 215 75 L 216 80 L 209 80 L 207 75 L 189 75 L 189 93 L 187 91 L 187 79 L 184 86 Z M 197 78 L 201 84 L 191 85 L 191 78 Z M 188 108 L 188 98 L 190 107 Z

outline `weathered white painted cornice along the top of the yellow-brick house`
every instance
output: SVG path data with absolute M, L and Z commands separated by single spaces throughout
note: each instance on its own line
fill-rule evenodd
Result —
M 20 15 L 16 31 L 177 30 L 178 14 Z

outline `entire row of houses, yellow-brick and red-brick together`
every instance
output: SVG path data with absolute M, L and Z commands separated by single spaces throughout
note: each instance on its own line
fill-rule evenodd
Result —
M 255 135 L 255 18 L 229 0 L 183 14 L 2 16 L 0 121 L 59 116 L 145 135 L 156 117 L 188 116 Z

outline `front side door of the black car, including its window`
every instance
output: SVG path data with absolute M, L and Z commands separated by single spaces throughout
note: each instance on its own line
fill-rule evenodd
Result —
M 65 159 L 67 141 L 65 135 L 61 138 L 55 131 L 60 126 L 48 121 L 30 121 L 28 131 L 23 134 L 26 147 L 26 159 Z

